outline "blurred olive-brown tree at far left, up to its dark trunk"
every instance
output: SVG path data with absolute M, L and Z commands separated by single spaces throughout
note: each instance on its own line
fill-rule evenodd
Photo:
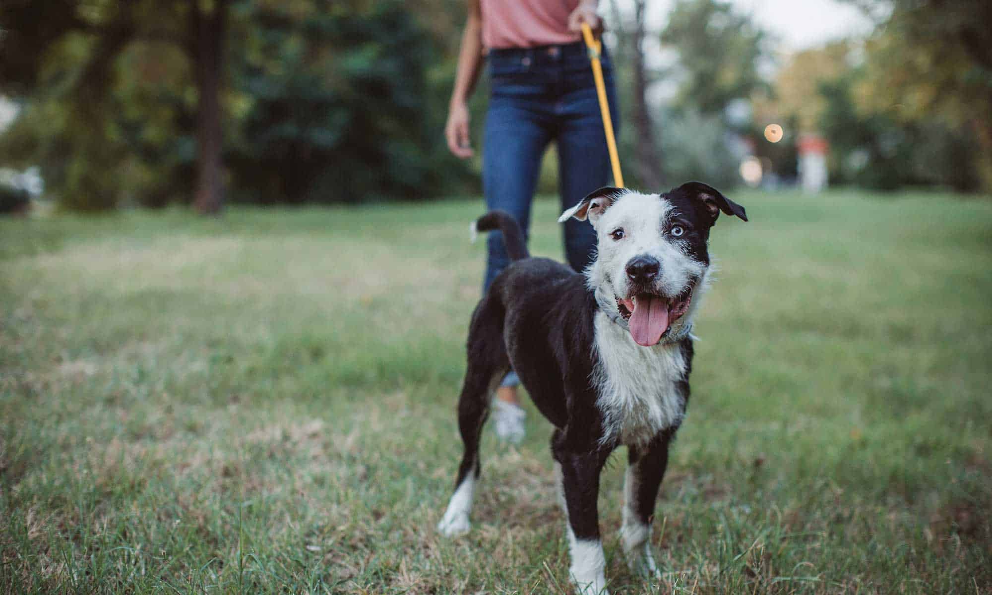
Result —
M 199 10 L 187 0 L 5 3 L 0 24 L 10 60 L 0 91 L 24 110 L 0 139 L 0 156 L 40 166 L 47 188 L 69 208 L 112 208 L 127 198 L 156 204 L 186 194 L 174 169 L 198 111 L 189 99 L 209 95 L 197 93 L 187 76 L 187 60 L 198 52 L 190 16 Z M 50 21 L 52 14 L 59 16 Z M 43 35 L 35 36 L 39 24 Z M 200 124 L 219 126 L 208 119 Z M 203 147 L 192 153 L 201 165 L 211 155 Z M 205 179 L 219 179 L 219 160 L 206 167 L 217 172 Z

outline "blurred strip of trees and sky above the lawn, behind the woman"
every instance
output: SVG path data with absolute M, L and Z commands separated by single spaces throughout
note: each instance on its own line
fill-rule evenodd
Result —
M 600 13 L 628 185 L 992 191 L 986 0 Z M 477 194 L 481 158 L 442 138 L 464 16 L 463 0 L 6 0 L 3 210 Z M 552 150 L 543 191 L 556 172 Z

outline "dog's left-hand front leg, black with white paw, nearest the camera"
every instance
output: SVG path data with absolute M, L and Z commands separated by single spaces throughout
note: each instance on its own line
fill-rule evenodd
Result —
M 606 558 L 599 536 L 599 472 L 606 462 L 599 449 L 575 452 L 555 448 L 561 469 L 561 491 L 568 517 L 568 549 L 571 554 L 569 576 L 579 593 L 598 595 L 606 590 Z

